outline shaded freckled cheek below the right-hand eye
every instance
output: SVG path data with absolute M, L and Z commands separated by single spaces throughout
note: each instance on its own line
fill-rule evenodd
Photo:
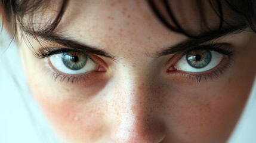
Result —
M 172 103 L 168 110 L 168 123 L 172 127 L 169 132 L 175 134 L 174 138 L 187 142 L 225 142 L 239 119 L 251 87 L 249 82 L 245 83 L 248 88 L 232 89 L 239 84 L 230 83 L 233 84 L 227 84 L 218 92 L 214 92 L 215 87 L 201 88 L 200 92 L 177 95 L 187 96 L 187 100 L 169 101 Z

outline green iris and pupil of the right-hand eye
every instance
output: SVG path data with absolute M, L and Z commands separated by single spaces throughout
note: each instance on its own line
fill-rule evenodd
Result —
M 211 62 L 212 54 L 208 49 L 196 49 L 187 53 L 186 59 L 190 66 L 201 69 Z

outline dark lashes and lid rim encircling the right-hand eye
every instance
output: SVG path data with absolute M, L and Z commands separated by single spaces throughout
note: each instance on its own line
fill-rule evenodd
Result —
M 209 49 L 211 51 L 218 52 L 220 54 L 224 55 L 223 60 L 221 61 L 221 66 L 218 65 L 218 67 L 214 67 L 214 69 L 211 69 L 209 71 L 205 71 L 203 73 L 186 73 L 184 71 L 175 70 L 175 67 L 173 68 L 174 71 L 167 71 L 168 73 L 176 72 L 178 76 L 183 76 L 186 79 L 186 82 L 190 82 L 191 80 L 196 80 L 198 83 L 201 82 L 202 79 L 205 81 L 208 80 L 214 80 L 221 76 L 221 74 L 224 74 L 226 69 L 230 67 L 230 61 L 231 58 L 234 55 L 234 51 L 230 48 L 229 45 L 226 43 L 209 43 L 208 45 L 198 45 L 196 47 L 187 49 L 183 54 L 181 54 L 180 58 L 176 61 L 176 63 L 183 58 L 183 56 L 186 56 L 186 54 L 189 53 L 189 51 L 195 50 L 195 49 Z

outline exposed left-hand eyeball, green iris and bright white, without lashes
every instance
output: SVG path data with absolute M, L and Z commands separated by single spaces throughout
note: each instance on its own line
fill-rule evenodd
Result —
M 81 74 L 99 69 L 99 65 L 82 52 L 62 52 L 49 59 L 53 67 L 64 74 Z

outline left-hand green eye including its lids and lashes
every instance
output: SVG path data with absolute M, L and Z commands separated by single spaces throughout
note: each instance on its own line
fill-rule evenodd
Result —
M 61 82 L 78 82 L 88 80 L 95 73 L 106 71 L 104 62 L 96 55 L 87 54 L 81 50 L 69 48 L 41 48 L 38 57 L 46 58 L 49 69 L 55 80 L 60 78 Z

